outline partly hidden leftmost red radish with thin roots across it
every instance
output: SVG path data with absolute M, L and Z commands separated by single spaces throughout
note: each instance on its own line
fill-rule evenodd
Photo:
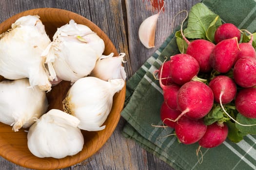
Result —
M 171 85 L 173 83 L 172 78 L 170 76 L 170 63 L 171 63 L 170 60 L 166 61 L 160 66 L 159 70 L 156 70 L 156 72 L 158 72 L 158 77 L 161 77 L 162 85 Z M 161 69 L 162 69 L 162 75 L 160 75 Z

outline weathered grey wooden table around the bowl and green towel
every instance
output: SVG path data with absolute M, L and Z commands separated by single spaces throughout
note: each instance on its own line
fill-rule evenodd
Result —
M 185 13 L 200 0 L 166 0 L 159 15 L 155 48 L 146 49 L 138 39 L 141 22 L 157 14 L 162 0 L 0 0 L 0 22 L 22 11 L 34 8 L 60 8 L 88 18 L 103 30 L 116 46 L 125 52 L 127 77 L 136 70 L 163 43 L 172 28 L 181 23 Z M 174 21 L 174 22 L 173 22 Z M 93 156 L 62 170 L 172 170 L 165 162 L 142 149 L 137 143 L 121 136 L 125 123 L 120 119 L 114 134 Z M 0 157 L 0 170 L 28 170 Z

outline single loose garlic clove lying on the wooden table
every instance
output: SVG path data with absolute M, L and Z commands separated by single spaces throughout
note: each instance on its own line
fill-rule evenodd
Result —
M 164 4 L 163 4 L 164 6 Z M 157 21 L 160 12 L 163 9 L 151 17 L 146 18 L 139 26 L 138 29 L 138 37 L 140 42 L 148 49 L 155 47 L 155 36 L 156 36 L 156 28 L 157 28 Z

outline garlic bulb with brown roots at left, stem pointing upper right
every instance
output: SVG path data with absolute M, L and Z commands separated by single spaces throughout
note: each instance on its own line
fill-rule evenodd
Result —
M 96 77 L 79 79 L 69 89 L 63 108 L 80 120 L 78 127 L 87 131 L 99 131 L 112 108 L 113 96 L 124 86 L 123 79 L 108 82 Z

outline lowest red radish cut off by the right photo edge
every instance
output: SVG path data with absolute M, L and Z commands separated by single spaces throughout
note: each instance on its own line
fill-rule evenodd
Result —
M 249 87 L 240 90 L 235 100 L 236 110 L 243 116 L 256 118 L 256 88 Z

